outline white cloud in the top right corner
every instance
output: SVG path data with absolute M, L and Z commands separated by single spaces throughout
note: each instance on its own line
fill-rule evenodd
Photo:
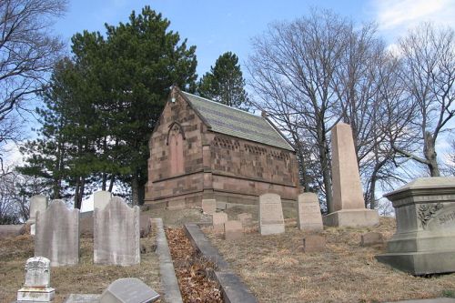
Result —
M 372 0 L 379 30 L 407 30 L 420 22 L 455 26 L 455 0 Z

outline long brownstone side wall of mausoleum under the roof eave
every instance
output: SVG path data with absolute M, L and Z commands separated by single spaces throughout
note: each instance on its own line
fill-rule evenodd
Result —
M 265 193 L 297 199 L 298 166 L 294 153 L 222 134 L 208 132 L 206 138 L 210 142 L 212 185 L 218 199 L 228 197 L 232 202 L 241 194 L 246 196 L 242 198 L 245 202 L 239 203 L 246 203 Z

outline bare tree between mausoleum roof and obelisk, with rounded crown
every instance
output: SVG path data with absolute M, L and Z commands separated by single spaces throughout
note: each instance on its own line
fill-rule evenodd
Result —
M 333 89 L 349 23 L 329 11 L 314 10 L 292 23 L 271 25 L 253 41 L 250 86 L 262 100 L 274 99 L 293 115 L 288 124 L 303 128 L 315 143 L 326 201 L 331 207 L 329 131 L 338 121 Z M 278 96 L 278 98 L 276 98 Z M 329 212 L 331 209 L 329 209 Z

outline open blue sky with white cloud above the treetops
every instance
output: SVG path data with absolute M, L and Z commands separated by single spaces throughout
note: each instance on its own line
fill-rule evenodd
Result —
M 126 22 L 133 10 L 140 12 L 145 5 L 167 17 L 171 29 L 187 38 L 188 45 L 197 45 L 199 76 L 227 51 L 237 54 L 242 64 L 248 58 L 251 37 L 260 35 L 271 22 L 308 14 L 311 6 L 329 8 L 359 23 L 377 22 L 389 44 L 419 21 L 453 26 L 455 19 L 455 0 L 71 0 L 68 12 L 55 25 L 56 33 L 68 45 L 70 37 L 84 29 L 104 34 L 105 23 Z

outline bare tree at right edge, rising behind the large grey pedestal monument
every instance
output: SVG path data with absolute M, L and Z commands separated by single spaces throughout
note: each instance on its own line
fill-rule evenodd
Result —
M 422 24 L 400 40 L 405 71 L 404 83 L 420 117 L 420 153 L 395 149 L 405 157 L 428 167 L 431 177 L 440 176 L 436 142 L 455 116 L 455 36 L 451 28 Z M 420 155 L 423 155 L 420 156 Z

